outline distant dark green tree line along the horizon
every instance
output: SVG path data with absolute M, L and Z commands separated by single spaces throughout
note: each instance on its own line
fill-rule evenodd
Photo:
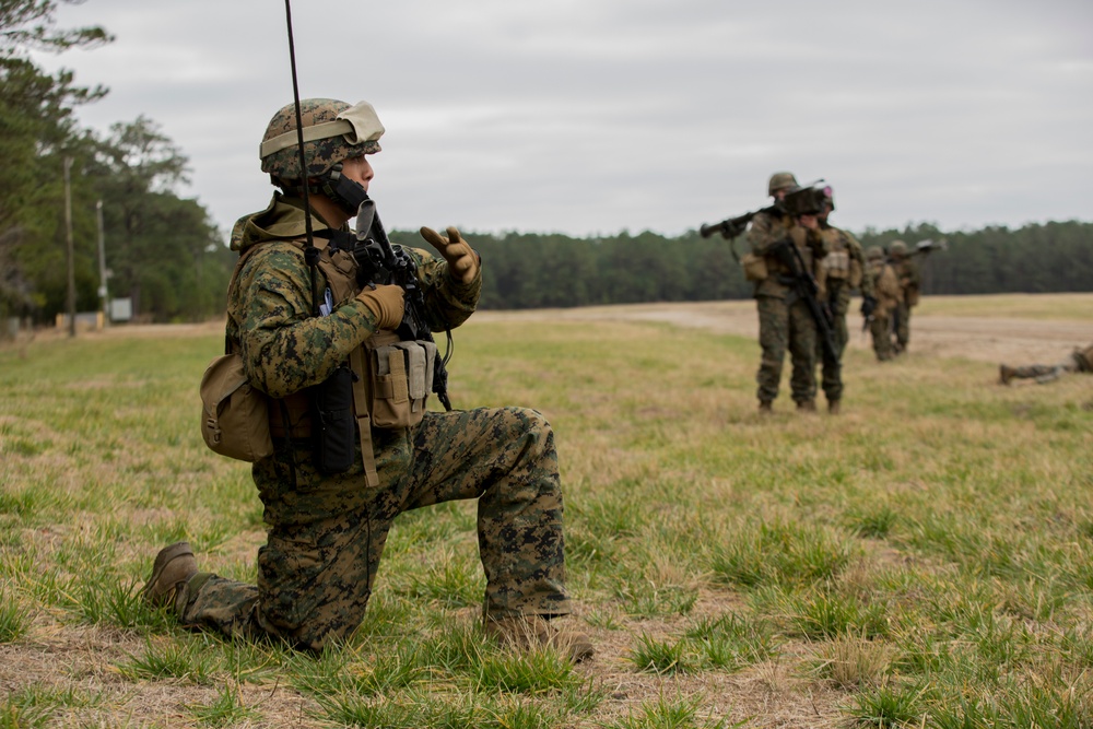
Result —
M 483 260 L 482 308 L 520 309 L 640 302 L 748 298 L 737 257 L 747 240 L 675 237 L 623 232 L 611 237 L 562 234 L 467 234 Z M 1031 224 L 947 233 L 931 224 L 904 230 L 866 230 L 862 246 L 885 250 L 893 240 L 908 248 L 944 242 L 921 255 L 925 294 L 994 294 L 1093 291 L 1093 223 Z M 415 233 L 391 239 L 422 246 Z

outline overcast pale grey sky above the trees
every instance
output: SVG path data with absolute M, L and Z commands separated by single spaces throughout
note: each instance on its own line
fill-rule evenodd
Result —
M 303 97 L 387 127 L 389 228 L 675 235 L 767 203 L 771 173 L 835 190 L 853 231 L 1093 219 L 1089 0 L 296 0 Z M 40 58 L 189 158 L 225 235 L 265 208 L 258 143 L 292 101 L 280 0 L 87 0 L 116 40 Z

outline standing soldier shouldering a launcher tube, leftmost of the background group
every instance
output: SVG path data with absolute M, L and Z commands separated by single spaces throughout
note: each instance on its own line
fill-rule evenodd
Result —
M 792 174 L 772 175 L 767 191 L 775 199 L 776 209 L 757 213 L 748 230 L 751 254 L 744 257 L 744 275 L 755 286 L 759 343 L 763 349 L 755 377 L 760 413 L 772 412 L 772 403 L 778 397 L 787 349 L 794 367 L 789 384 L 797 409 L 816 409 L 816 324 L 808 304 L 797 296 L 787 280 L 790 269 L 784 257 L 796 247 L 809 273 L 814 274 L 824 247 L 815 215 L 795 217 L 778 209 L 786 193 L 796 187 Z

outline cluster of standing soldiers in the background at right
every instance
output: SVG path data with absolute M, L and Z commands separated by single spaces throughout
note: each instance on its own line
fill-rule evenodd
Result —
M 843 398 L 841 361 L 849 340 L 846 315 L 851 293 L 861 293 L 861 313 L 872 336 L 873 351 L 879 361 L 885 362 L 907 351 L 910 309 L 918 304 L 921 275 L 903 240 L 893 242 L 886 255 L 880 246 L 862 250 L 853 235 L 832 225 L 835 200 L 830 187 L 823 189 L 823 201 L 815 214 L 792 214 L 783 208 L 786 196 L 799 189 L 791 173 L 772 175 L 767 191 L 775 204 L 756 213 L 748 228 L 751 252 L 742 263 L 754 285 L 763 351 L 756 375 L 759 410 L 764 414 L 773 412 L 788 350 L 792 365 L 790 390 L 797 409 L 814 412 L 816 391 L 822 389 L 827 411 L 837 414 Z M 802 271 L 795 270 L 798 264 Z M 795 285 L 795 277 L 800 275 L 814 282 L 819 309 Z M 818 311 L 825 322 L 818 321 Z

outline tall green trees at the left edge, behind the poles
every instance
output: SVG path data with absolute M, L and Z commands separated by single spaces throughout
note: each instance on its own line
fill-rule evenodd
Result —
M 111 297 L 131 298 L 149 320 L 215 315 L 234 256 L 205 209 L 175 191 L 186 156 L 145 117 L 105 136 L 77 124 L 75 109 L 107 90 L 47 73 L 31 51 L 113 38 L 98 26 L 57 28 L 57 7 L 0 0 L 0 317 L 51 321 L 68 310 L 70 236 L 75 308 L 99 308 L 99 211 Z

